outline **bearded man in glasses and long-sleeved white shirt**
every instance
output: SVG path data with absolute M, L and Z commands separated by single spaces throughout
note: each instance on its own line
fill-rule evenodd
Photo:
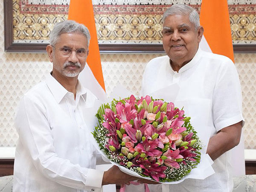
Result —
M 105 184 L 136 179 L 116 166 L 95 170 L 96 150 L 83 111 L 97 98 L 78 80 L 89 41 L 88 29 L 72 20 L 57 23 L 51 32 L 52 72 L 23 96 L 15 118 L 14 192 L 96 192 Z

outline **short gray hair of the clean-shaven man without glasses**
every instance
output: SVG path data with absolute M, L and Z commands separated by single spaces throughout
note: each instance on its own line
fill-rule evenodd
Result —
M 164 13 L 163 13 L 163 22 L 166 20 L 166 17 L 170 15 L 188 15 L 189 21 L 194 24 L 195 30 L 198 29 L 200 26 L 200 20 L 198 12 L 193 9 L 190 6 L 184 5 L 184 4 L 175 4 L 171 7 L 169 7 Z

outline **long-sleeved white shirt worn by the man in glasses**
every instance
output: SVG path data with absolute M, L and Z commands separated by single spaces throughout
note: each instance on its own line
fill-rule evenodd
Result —
M 83 111 L 96 97 L 77 85 L 76 100 L 50 74 L 20 101 L 15 118 L 19 134 L 14 192 L 101 191 Z

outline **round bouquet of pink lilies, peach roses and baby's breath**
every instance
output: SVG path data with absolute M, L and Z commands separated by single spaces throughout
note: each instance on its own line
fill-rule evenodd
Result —
M 103 104 L 93 137 L 105 157 L 142 177 L 181 180 L 201 159 L 202 143 L 190 117 L 172 102 L 150 96 Z

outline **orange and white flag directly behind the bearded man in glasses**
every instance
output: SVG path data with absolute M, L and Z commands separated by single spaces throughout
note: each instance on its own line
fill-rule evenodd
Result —
M 80 73 L 79 80 L 98 99 L 106 101 L 92 0 L 70 0 L 68 20 L 84 24 L 89 29 L 91 36 L 87 65 Z

